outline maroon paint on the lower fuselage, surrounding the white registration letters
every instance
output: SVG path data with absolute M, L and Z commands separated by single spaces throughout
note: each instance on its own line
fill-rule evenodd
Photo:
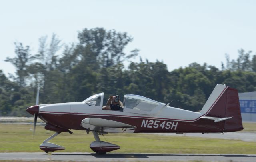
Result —
M 76 129 L 76 130 L 85 130 L 85 128 L 82 128 L 80 126 L 81 121 L 84 118 L 103 118 L 108 120 L 114 120 L 118 122 L 123 122 L 126 124 L 130 124 L 132 126 L 136 126 L 134 133 L 154 133 L 154 132 L 226 132 L 224 131 L 224 121 L 214 123 L 213 120 L 206 120 L 206 119 L 200 119 L 195 122 L 179 122 L 176 130 L 165 130 L 162 128 L 141 128 L 141 124 L 143 120 L 147 119 L 141 119 L 141 118 L 123 118 L 123 117 L 107 117 L 107 116 L 86 116 L 86 115 L 68 115 L 68 114 L 62 114 L 62 115 L 56 115 L 56 114 L 41 114 L 47 121 L 51 121 L 50 119 L 56 119 L 58 122 L 58 126 L 66 126 L 66 128 L 69 129 Z M 48 119 L 49 118 L 49 119 Z M 65 119 L 65 120 L 63 120 Z M 152 120 L 152 119 L 148 119 Z M 73 124 L 69 124 L 70 121 L 73 122 Z M 154 120 L 153 120 L 154 121 Z M 170 120 L 159 120 L 160 123 L 162 122 L 169 122 Z M 177 121 L 171 121 L 171 122 L 177 122 Z M 61 125 L 63 124 L 63 125 Z M 236 130 L 238 131 L 238 130 Z

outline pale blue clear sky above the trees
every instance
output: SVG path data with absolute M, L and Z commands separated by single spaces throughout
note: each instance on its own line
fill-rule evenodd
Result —
M 14 42 L 38 52 L 38 39 L 53 33 L 63 44 L 77 43 L 84 28 L 127 32 L 150 62 L 168 70 L 192 62 L 221 68 L 238 50 L 256 53 L 255 0 L 0 0 L 0 69 L 14 74 Z M 140 58 L 133 59 L 139 62 Z M 128 64 L 128 63 L 126 63 Z

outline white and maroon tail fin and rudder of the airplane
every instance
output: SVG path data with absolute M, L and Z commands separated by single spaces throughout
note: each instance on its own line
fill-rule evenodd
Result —
M 238 90 L 217 84 L 200 111 L 201 118 L 224 121 L 223 132 L 243 130 Z

